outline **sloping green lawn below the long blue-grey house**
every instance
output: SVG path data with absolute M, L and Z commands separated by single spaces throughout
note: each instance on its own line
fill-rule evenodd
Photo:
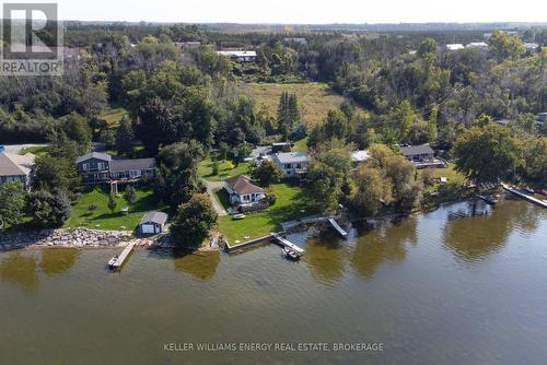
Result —
M 151 189 L 137 189 L 137 202 L 133 207 L 127 203 L 120 189 L 120 195 L 116 199 L 116 210 L 113 213 L 108 209 L 107 191 L 107 188 L 96 187 L 84 192 L 72 205 L 72 213 L 65 223 L 65 227 L 132 231 L 146 212 L 158 210 L 158 202 Z M 96 204 L 97 209 L 90 211 L 90 204 Z M 121 214 L 120 209 L 124 207 L 129 207 L 129 214 Z

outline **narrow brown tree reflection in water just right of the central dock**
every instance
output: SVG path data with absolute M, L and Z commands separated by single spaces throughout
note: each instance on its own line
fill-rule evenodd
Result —
M 333 286 L 344 275 L 345 242 L 333 232 L 312 237 L 305 247 L 304 261 L 312 269 L 312 275 L 319 282 Z

